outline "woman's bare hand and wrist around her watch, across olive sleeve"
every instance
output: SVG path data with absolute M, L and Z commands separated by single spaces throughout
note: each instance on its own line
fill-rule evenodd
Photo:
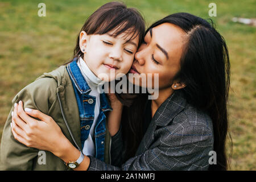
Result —
M 25 110 L 26 112 L 23 110 L 23 102 L 20 101 L 19 104 L 14 105 L 14 111 L 11 114 L 11 131 L 16 140 L 31 148 L 50 151 L 65 163 L 79 158 L 80 151 L 69 142 L 51 117 L 39 110 L 28 108 Z M 41 121 L 30 116 L 39 118 Z M 85 156 L 75 170 L 86 170 L 89 164 L 90 159 Z

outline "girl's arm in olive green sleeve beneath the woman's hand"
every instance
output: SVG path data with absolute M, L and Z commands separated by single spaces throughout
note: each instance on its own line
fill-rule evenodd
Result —
M 56 81 L 52 78 L 40 78 L 20 90 L 13 98 L 15 102 L 23 100 L 23 105 L 32 109 L 40 109 L 43 113 L 48 113 L 48 109 L 52 106 L 56 97 Z M 10 110 L 5 127 L 2 132 L 1 144 L 1 170 L 32 170 L 45 169 L 43 166 L 37 166 L 35 158 L 38 157 L 38 149 L 27 147 L 22 143 L 17 142 L 11 132 L 11 113 L 14 111 L 14 106 Z M 22 154 L 22 156 L 20 156 Z M 47 166 L 47 165 L 46 165 Z M 48 166 L 46 167 L 48 168 Z M 53 167 L 54 168 L 54 167 Z M 52 168 L 52 169 L 53 169 Z M 51 168 L 48 168 L 51 169 Z

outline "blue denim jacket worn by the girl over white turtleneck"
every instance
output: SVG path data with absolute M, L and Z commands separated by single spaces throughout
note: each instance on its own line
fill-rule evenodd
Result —
M 90 128 L 94 120 L 94 108 L 96 97 L 90 96 L 91 91 L 89 85 L 85 81 L 84 76 L 77 65 L 77 59 L 74 59 L 67 66 L 69 77 L 72 80 L 72 85 L 76 95 L 77 105 L 79 107 L 79 117 L 81 126 L 81 143 L 84 146 L 85 140 L 88 138 Z M 106 134 L 106 115 L 107 111 L 111 111 L 105 93 L 100 94 L 100 113 L 94 128 L 94 144 L 97 159 L 104 161 L 105 152 L 105 134 Z

